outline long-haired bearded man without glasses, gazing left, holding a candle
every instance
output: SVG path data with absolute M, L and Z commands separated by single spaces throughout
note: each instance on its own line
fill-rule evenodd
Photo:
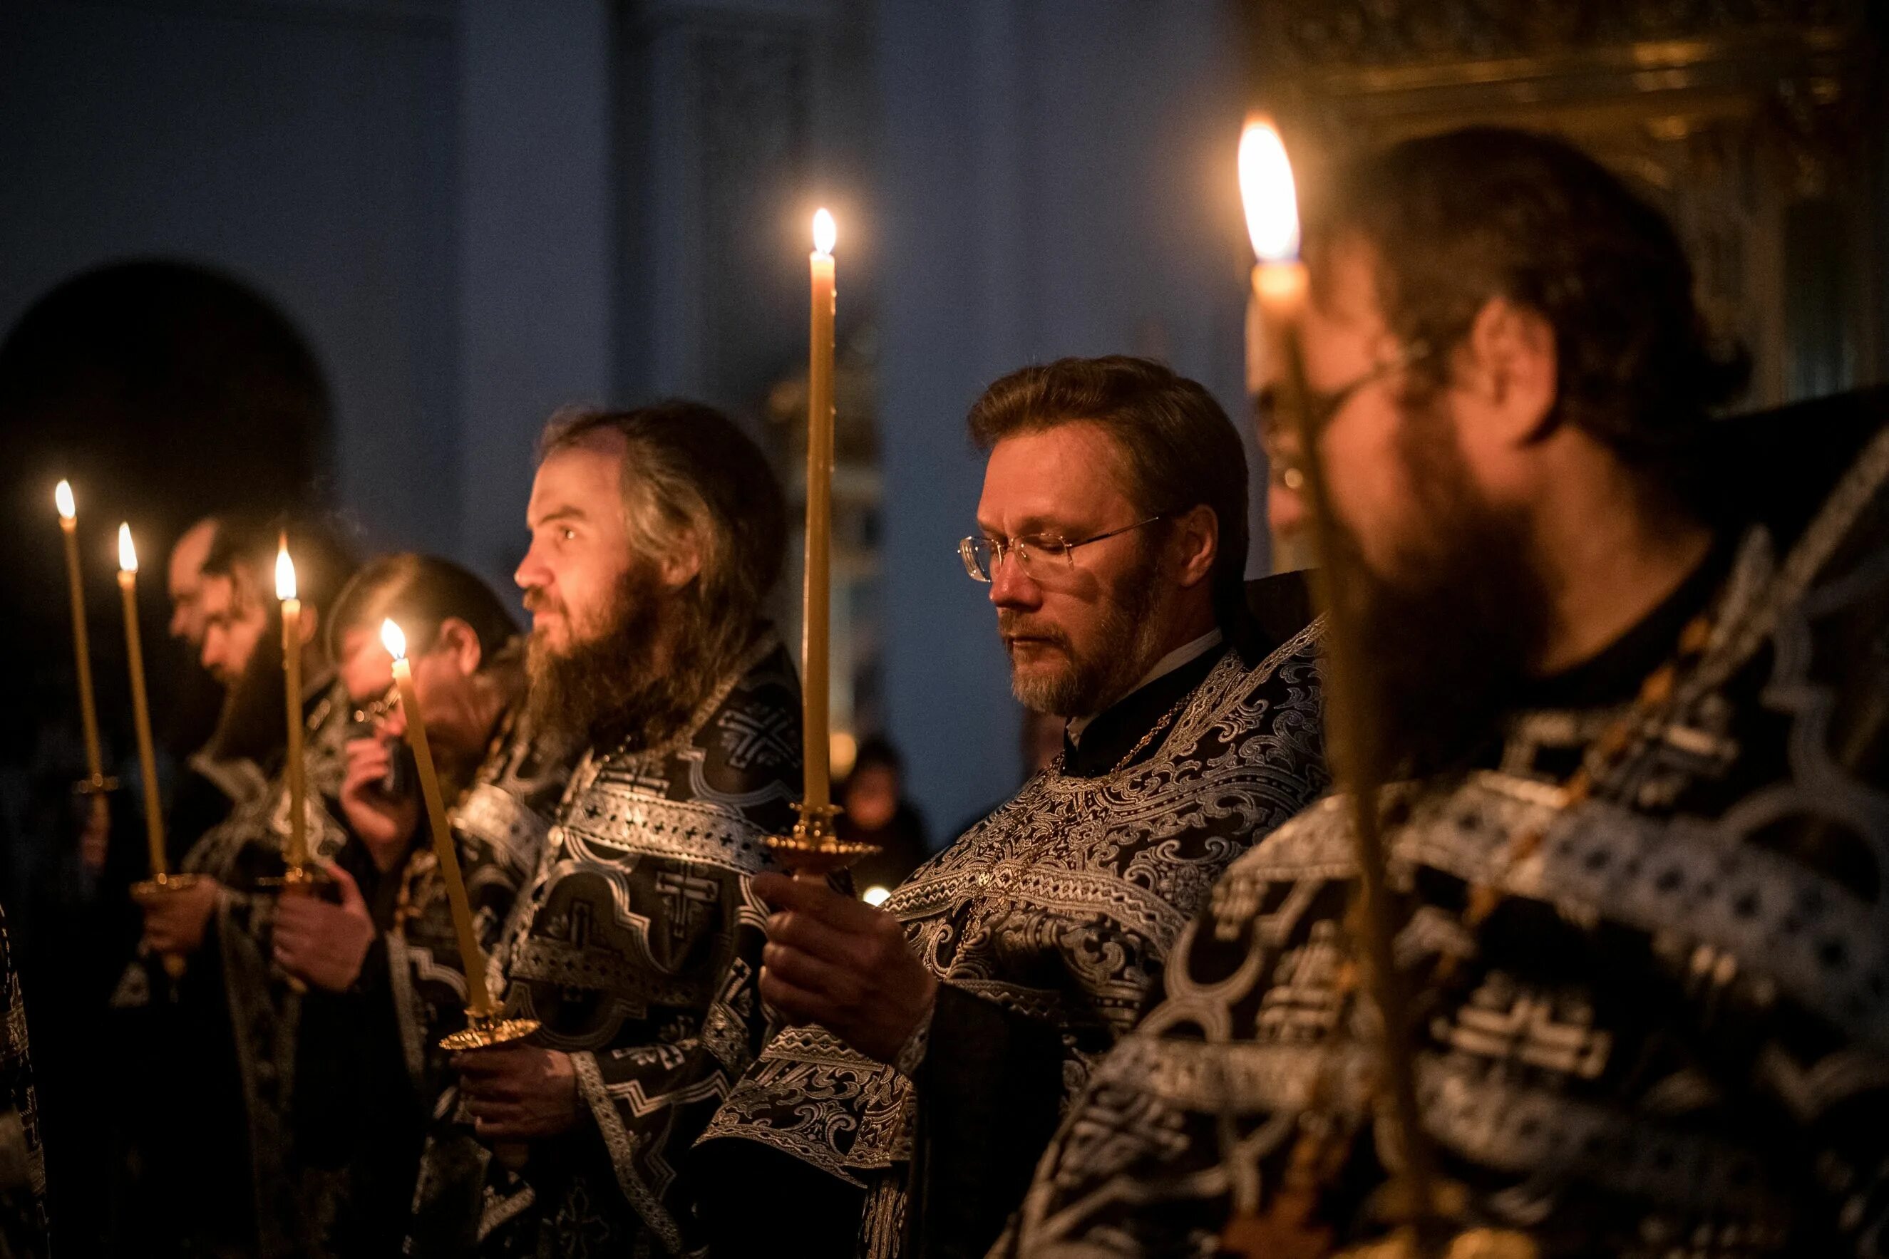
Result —
M 493 1159 L 482 1253 L 682 1253 L 676 1168 L 763 1040 L 750 889 L 799 789 L 761 608 L 780 487 L 720 411 L 553 419 L 518 568 L 529 719 L 587 747 L 491 966 L 529 1042 L 453 1059 Z

